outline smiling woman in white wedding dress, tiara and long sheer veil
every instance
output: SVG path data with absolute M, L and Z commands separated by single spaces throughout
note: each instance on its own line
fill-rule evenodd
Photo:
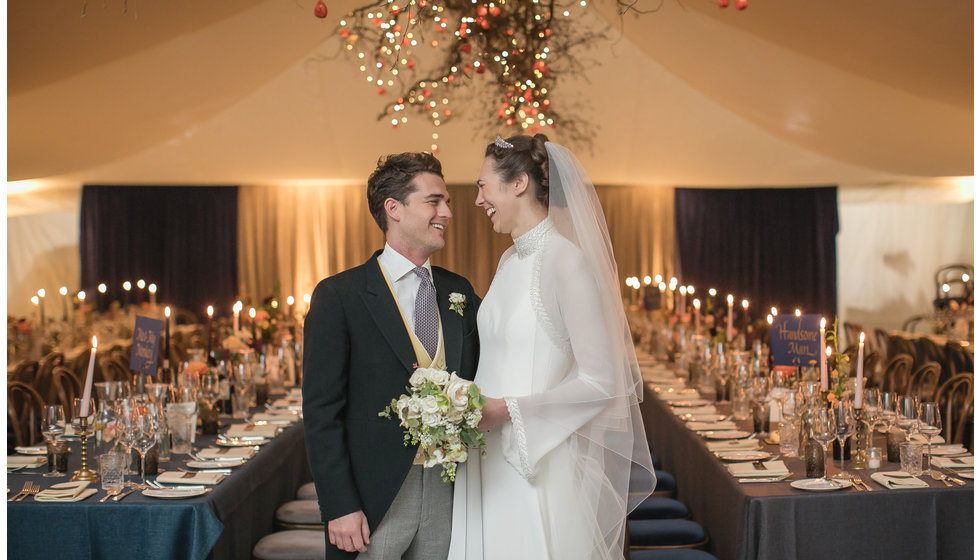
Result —
M 457 473 L 450 558 L 621 559 L 655 479 L 602 208 L 543 134 L 485 155 L 476 204 L 514 246 L 477 316 L 487 448 Z

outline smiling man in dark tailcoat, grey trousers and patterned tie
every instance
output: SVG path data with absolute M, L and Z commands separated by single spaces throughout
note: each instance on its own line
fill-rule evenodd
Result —
M 384 250 L 322 280 L 304 327 L 303 417 L 327 558 L 445 558 L 452 485 L 378 413 L 416 367 L 473 379 L 480 301 L 465 278 L 429 263 L 452 218 L 439 160 L 382 158 L 367 197 Z M 463 305 L 450 307 L 450 294 Z

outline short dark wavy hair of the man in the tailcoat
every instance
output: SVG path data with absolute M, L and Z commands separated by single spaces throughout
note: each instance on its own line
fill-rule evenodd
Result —
M 394 198 L 405 204 L 408 195 L 415 192 L 412 180 L 419 173 L 432 173 L 442 179 L 442 164 L 429 152 L 405 152 L 378 159 L 377 169 L 368 177 L 368 209 L 382 232 L 388 233 L 385 200 Z

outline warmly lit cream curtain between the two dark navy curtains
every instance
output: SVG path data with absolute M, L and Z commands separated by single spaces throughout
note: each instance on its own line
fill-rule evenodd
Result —
M 620 275 L 673 271 L 673 189 L 599 187 Z M 453 220 L 446 247 L 432 262 L 466 276 L 486 294 L 510 238 L 494 233 L 476 207 L 476 187 L 450 185 Z M 364 185 L 239 189 L 241 294 L 261 301 L 273 294 L 312 293 L 322 278 L 363 263 L 384 245 L 367 208 Z

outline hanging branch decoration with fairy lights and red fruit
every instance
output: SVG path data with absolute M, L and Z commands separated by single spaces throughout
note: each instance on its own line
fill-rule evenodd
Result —
M 587 143 L 584 123 L 553 101 L 559 76 L 584 68 L 580 50 L 605 37 L 573 25 L 574 13 L 586 6 L 585 0 L 376 0 L 347 14 L 337 32 L 368 84 L 388 98 L 378 118 L 393 128 L 411 116 L 439 127 L 465 107 L 487 107 L 490 134 L 560 127 L 566 141 Z M 326 16 L 322 2 L 316 15 Z M 437 152 L 438 132 L 432 138 Z

